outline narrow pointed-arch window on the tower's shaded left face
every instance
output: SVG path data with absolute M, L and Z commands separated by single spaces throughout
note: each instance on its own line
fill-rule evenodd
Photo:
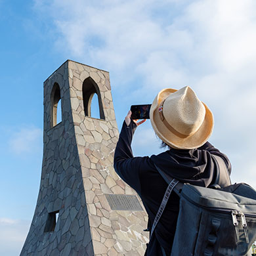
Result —
M 51 93 L 51 127 L 62 121 L 60 86 L 54 83 Z

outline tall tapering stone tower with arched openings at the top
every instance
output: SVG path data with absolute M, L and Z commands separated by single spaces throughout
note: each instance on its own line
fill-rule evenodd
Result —
M 144 255 L 146 213 L 113 168 L 119 133 L 108 72 L 67 60 L 45 81 L 43 104 L 41 184 L 20 255 Z

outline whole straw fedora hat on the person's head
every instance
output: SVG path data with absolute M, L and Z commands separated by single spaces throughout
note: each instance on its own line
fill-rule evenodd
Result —
M 189 87 L 163 89 L 150 108 L 150 121 L 158 137 L 175 149 L 202 146 L 213 132 L 213 114 Z

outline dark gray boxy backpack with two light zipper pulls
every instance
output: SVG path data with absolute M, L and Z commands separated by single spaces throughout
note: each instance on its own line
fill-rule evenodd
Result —
M 217 161 L 222 164 L 219 159 Z M 221 180 L 226 179 L 221 175 L 213 188 L 203 188 L 182 184 L 156 168 L 169 186 L 150 235 L 161 218 L 171 191 L 180 197 L 171 256 L 247 255 L 256 240 L 256 191 L 251 186 L 239 183 L 221 188 Z

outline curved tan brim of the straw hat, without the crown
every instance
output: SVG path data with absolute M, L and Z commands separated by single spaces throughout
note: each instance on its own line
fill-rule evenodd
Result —
M 194 133 L 193 135 L 190 135 L 186 138 L 181 138 L 172 133 L 161 121 L 160 114 L 158 112 L 158 109 L 160 107 L 161 102 L 165 100 L 171 93 L 175 93 L 175 89 L 163 89 L 158 93 L 156 98 L 154 99 L 152 106 L 150 108 L 150 121 L 152 124 L 152 127 L 158 137 L 163 140 L 166 144 L 171 146 L 171 148 L 176 149 L 192 149 L 192 148 L 199 148 L 202 146 L 211 136 L 211 133 L 213 132 L 213 114 L 211 110 L 205 106 L 205 118 L 203 120 L 202 125 Z

